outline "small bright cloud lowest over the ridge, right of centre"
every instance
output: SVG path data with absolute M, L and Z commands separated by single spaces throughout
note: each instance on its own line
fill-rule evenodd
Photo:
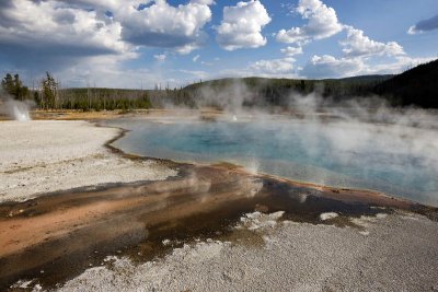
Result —
M 302 69 L 301 74 L 307 78 L 342 78 L 358 74 L 366 69 L 361 58 L 339 58 L 333 56 L 313 56 Z

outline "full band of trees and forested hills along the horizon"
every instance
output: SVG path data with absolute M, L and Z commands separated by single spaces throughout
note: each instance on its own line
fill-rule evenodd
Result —
M 81 110 L 163 108 L 168 105 L 189 108 L 219 107 L 221 103 L 218 96 L 223 96 L 223 93 L 242 94 L 239 91 L 230 91 L 235 84 L 244 85 L 244 94 L 249 98 L 245 98 L 243 106 L 247 107 L 288 106 L 291 94 L 307 95 L 316 92 L 334 102 L 379 95 L 394 106 L 438 108 L 438 60 L 420 65 L 399 75 L 325 80 L 221 79 L 199 81 L 174 90 L 169 86 L 164 90 L 60 89 L 59 82 L 49 72 L 46 72 L 39 82 L 38 90 L 24 86 L 19 74 L 7 73 L 1 81 L 4 92 L 20 101 L 34 100 L 41 109 Z M 211 96 L 205 98 L 206 92 Z

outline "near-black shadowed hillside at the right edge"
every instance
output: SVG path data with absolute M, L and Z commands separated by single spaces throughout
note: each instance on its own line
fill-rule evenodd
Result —
M 438 59 L 376 85 L 373 92 L 396 105 L 438 108 Z

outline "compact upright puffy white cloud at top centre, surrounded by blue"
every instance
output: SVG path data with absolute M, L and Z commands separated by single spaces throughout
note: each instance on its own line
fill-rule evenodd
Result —
M 270 17 L 258 0 L 224 7 L 223 20 L 216 27 L 217 42 L 226 50 L 264 46 L 267 40 L 262 28 L 269 22 Z

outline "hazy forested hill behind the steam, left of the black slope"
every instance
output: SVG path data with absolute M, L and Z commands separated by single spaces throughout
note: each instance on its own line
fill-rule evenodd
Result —
M 324 97 L 334 101 L 344 101 L 353 97 L 370 95 L 372 89 L 393 75 L 362 75 L 345 79 L 325 80 L 298 80 L 298 79 L 267 79 L 267 78 L 229 78 L 211 80 L 191 84 L 183 89 L 192 102 L 206 98 L 206 94 L 220 98 L 223 92 L 227 94 L 245 94 L 237 98 L 245 98 L 245 106 L 287 106 L 290 94 L 307 95 L 316 92 Z M 242 89 L 244 86 L 244 89 Z M 228 96 L 229 98 L 232 96 Z M 209 98 L 220 104 L 220 101 Z

